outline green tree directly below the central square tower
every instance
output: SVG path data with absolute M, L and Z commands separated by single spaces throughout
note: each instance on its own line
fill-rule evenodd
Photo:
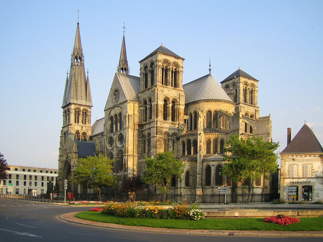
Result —
M 160 187 L 161 192 L 166 199 L 167 186 L 172 177 L 182 180 L 184 164 L 181 160 L 176 159 L 172 152 L 157 153 L 156 158 L 146 156 L 146 171 L 141 180 L 147 184 L 154 184 Z

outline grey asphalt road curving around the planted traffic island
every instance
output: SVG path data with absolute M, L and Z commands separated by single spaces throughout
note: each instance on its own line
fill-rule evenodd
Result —
M 59 215 L 86 211 L 90 207 L 70 207 L 57 204 L 38 203 L 24 200 L 0 199 L 0 242 L 13 241 L 59 241 L 59 242 L 240 242 L 240 241 L 321 241 L 315 237 L 216 237 L 160 234 L 127 231 L 69 223 L 58 218 Z

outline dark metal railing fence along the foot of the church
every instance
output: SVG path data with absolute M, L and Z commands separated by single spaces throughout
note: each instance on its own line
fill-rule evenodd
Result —
M 86 200 L 86 201 L 99 201 L 99 194 L 77 194 L 74 193 L 75 200 Z M 128 193 L 116 194 L 114 193 L 104 193 L 101 194 L 102 201 L 118 201 L 125 202 L 133 200 L 134 198 Z M 248 194 L 247 193 L 233 193 L 226 194 L 227 203 L 247 203 Z M 279 198 L 278 193 L 251 193 L 250 203 L 258 202 L 270 202 L 273 199 Z M 164 194 L 162 193 L 137 193 L 136 201 L 162 201 L 164 199 Z M 173 200 L 176 202 L 187 202 L 187 203 L 224 203 L 224 194 L 182 194 L 182 193 L 169 193 L 166 194 L 166 200 Z

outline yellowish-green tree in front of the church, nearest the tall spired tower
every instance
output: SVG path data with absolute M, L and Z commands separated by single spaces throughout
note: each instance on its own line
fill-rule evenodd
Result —
M 96 189 L 99 192 L 99 200 L 101 201 L 102 186 L 112 186 L 115 183 L 114 177 L 111 175 L 111 163 L 112 160 L 101 153 L 99 156 L 78 158 L 78 166 L 72 180 L 88 188 Z

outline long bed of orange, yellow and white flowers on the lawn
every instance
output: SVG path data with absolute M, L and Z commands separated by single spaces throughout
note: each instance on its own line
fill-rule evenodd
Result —
M 126 202 L 115 203 L 108 202 L 101 213 L 118 217 L 134 218 L 163 218 L 163 219 L 186 219 L 200 220 L 203 218 L 203 211 L 196 206 L 187 206 L 175 204 L 173 206 L 158 206 L 146 202 Z

